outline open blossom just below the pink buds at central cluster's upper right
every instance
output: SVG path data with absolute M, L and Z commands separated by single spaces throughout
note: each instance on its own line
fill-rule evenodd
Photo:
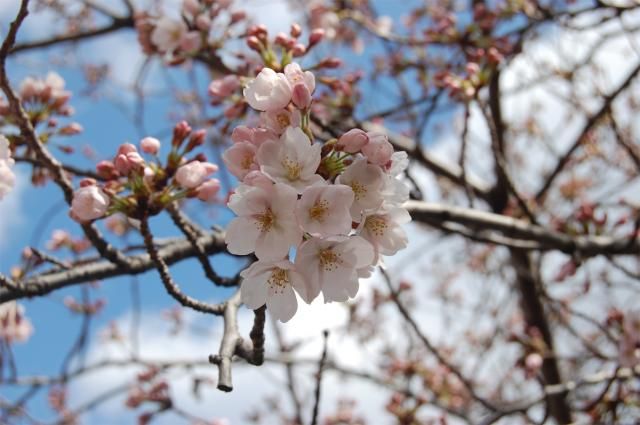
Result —
M 367 160 L 360 157 L 336 179 L 336 183 L 350 186 L 355 194 L 351 218 L 356 223 L 362 220 L 363 211 L 372 211 L 382 205 L 384 177 L 380 167 L 367 164 Z

